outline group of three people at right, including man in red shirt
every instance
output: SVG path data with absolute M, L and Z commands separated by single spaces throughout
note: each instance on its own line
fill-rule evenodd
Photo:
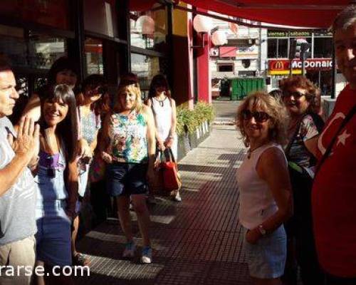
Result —
M 248 146 L 237 170 L 239 221 L 254 284 L 356 284 L 356 6 L 334 21 L 348 85 L 320 117 L 320 90 L 303 76 L 248 95 L 237 127 Z

